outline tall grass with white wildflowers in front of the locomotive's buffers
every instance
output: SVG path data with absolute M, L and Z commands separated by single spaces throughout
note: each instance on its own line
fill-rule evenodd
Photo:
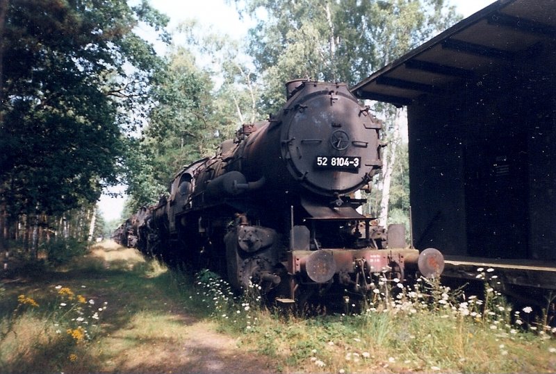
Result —
M 282 362 L 277 371 L 554 372 L 556 329 L 529 318 L 530 307 L 514 310 L 493 288 L 492 270 L 478 270 L 482 295 L 439 280 L 404 285 L 379 275 L 368 298 L 345 296 L 359 312 L 311 317 L 261 307 L 256 287 L 234 298 L 226 282 L 205 272 L 197 280 L 197 302 L 222 330 Z

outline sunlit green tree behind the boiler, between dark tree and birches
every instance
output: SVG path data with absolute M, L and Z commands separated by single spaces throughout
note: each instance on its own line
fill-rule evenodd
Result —
M 240 124 L 258 115 L 252 73 L 236 41 L 193 20 L 175 36 L 184 42 L 168 53 L 167 69 L 151 92 L 156 104 L 145 136 L 129 155 L 128 212 L 156 203 L 177 171 L 214 155 Z

